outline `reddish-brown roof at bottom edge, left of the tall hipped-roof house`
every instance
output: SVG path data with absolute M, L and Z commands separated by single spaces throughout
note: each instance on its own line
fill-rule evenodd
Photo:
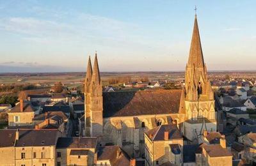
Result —
M 130 165 L 129 156 L 118 146 L 102 146 L 97 149 L 97 160 L 109 160 L 111 165 Z

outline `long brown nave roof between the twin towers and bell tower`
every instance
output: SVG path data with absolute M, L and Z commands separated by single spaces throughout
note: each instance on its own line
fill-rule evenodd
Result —
M 103 93 L 103 117 L 179 113 L 181 89 Z

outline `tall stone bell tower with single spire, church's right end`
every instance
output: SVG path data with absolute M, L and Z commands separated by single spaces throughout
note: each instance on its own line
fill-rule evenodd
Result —
M 215 131 L 214 94 L 207 78 L 196 15 L 182 93 L 181 100 L 184 100 L 185 107 L 184 135 L 193 141 L 204 130 Z

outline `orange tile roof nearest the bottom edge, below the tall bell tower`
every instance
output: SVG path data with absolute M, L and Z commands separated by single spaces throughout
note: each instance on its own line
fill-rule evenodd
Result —
M 220 144 L 205 145 L 203 148 L 205 149 L 206 153 L 211 157 L 232 156 L 232 153 L 230 153 L 228 149 L 221 147 Z

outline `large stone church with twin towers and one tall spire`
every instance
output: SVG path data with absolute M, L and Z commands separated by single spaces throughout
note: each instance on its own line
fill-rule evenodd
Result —
M 84 135 L 99 137 L 100 144 L 118 145 L 134 158 L 144 155 L 144 133 L 163 124 L 175 124 L 186 144 L 200 144 L 204 131 L 216 132 L 214 93 L 195 15 L 183 89 L 102 92 L 95 54 L 88 59 L 84 80 Z

